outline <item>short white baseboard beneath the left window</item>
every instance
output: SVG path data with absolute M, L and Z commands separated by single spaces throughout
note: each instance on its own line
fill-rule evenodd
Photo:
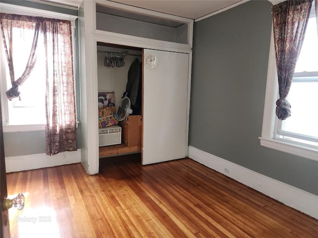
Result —
M 8 173 L 79 162 L 80 149 L 72 152 L 59 153 L 54 156 L 47 156 L 46 154 L 12 156 L 5 157 L 5 171 Z

